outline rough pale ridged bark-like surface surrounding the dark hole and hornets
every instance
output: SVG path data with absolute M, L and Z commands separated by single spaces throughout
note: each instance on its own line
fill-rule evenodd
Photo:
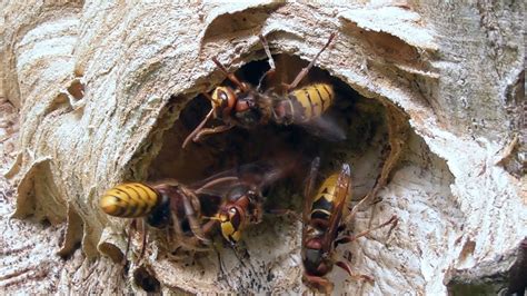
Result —
M 338 32 L 317 66 L 358 92 L 359 110 L 382 107 L 370 114 L 381 118 L 371 147 L 339 154 L 338 160 L 357 167 L 354 189 L 381 200 L 349 227 L 361 230 L 394 214 L 400 220 L 389 236 L 378 231 L 339 247 L 340 254 L 352 254 L 355 270 L 376 282 L 348 280 L 334 270 L 336 290 L 436 295 L 445 294 L 446 285 L 517 288 L 517 275 L 508 270 L 525 257 L 518 246 L 527 236 L 525 6 L 396 2 L 0 4 L 0 96 L 20 110 L 18 152 L 4 171 L 17 184 L 13 217 L 52 225 L 10 221 L 9 203 L 2 201 L 1 223 L 11 231 L 2 234 L 8 243 L 1 262 L 10 265 L 12 256 L 18 262 L 0 269 L 0 285 L 101 293 L 138 288 L 130 283 L 155 285 L 149 274 L 163 289 L 190 293 L 302 292 L 301 225 L 287 217 L 248 230 L 243 263 L 229 249 L 219 250 L 220 260 L 215 251 L 173 260 L 161 239 L 151 237 L 143 268 L 130 272 L 136 280 L 122 280 L 120 266 L 106 256 L 122 257 L 125 223 L 102 214 L 98 199 L 122 180 L 151 178 L 159 157 L 188 167 L 191 160 L 185 159 L 201 152 L 166 147 L 179 146 L 188 134 L 178 128 L 186 103 L 223 79 L 211 57 L 232 70 L 262 59 L 261 32 L 274 53 L 309 60 Z M 360 142 L 359 136 L 354 140 Z M 390 151 L 385 162 L 379 160 L 384 145 Z M 201 176 L 205 166 L 190 176 Z M 386 186 L 368 181 L 377 176 Z M 51 258 L 29 272 L 28 260 L 50 258 L 61 228 L 59 254 L 73 254 L 61 263 L 66 267 Z M 39 245 L 49 253 L 30 251 L 38 240 L 13 243 L 39 237 L 27 229 L 57 241 Z M 76 251 L 79 243 L 82 253 Z M 488 288 L 481 278 L 493 269 L 504 279 Z M 48 286 L 21 284 L 59 270 L 62 276 L 48 277 Z

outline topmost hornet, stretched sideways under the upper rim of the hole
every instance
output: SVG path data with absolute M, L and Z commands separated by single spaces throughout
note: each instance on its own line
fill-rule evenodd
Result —
M 322 49 L 296 76 L 291 83 L 281 82 L 278 86 L 266 86 L 266 79 L 274 76 L 277 70 L 266 38 L 262 34 L 259 38 L 268 57 L 270 69 L 259 79 L 256 88 L 248 82 L 240 81 L 217 58 L 212 58 L 212 61 L 220 71 L 235 85 L 235 88 L 221 86 L 217 87 L 212 95 L 203 93 L 210 100 L 211 109 L 185 139 L 183 148 L 190 141 L 197 142 L 207 135 L 223 132 L 233 127 L 251 129 L 257 126 L 268 125 L 269 122 L 286 126 L 291 124 L 300 125 L 307 128 L 308 131 L 330 140 L 342 140 L 346 138 L 340 127 L 321 117 L 335 100 L 332 85 L 316 82 L 297 88 L 309 73 L 318 57 L 331 43 L 335 33 L 329 37 Z M 219 119 L 223 125 L 203 128 L 210 118 Z

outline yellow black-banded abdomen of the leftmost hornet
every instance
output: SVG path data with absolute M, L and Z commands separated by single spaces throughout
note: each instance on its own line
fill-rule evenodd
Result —
M 99 206 L 111 216 L 137 218 L 150 214 L 159 200 L 159 194 L 150 186 L 126 182 L 106 191 L 99 200 Z

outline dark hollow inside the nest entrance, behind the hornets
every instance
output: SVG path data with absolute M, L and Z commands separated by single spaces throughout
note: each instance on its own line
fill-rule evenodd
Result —
M 308 63 L 288 55 L 274 57 L 277 71 L 266 81 L 264 90 L 277 83 L 291 82 Z M 236 71 L 236 76 L 256 87 L 268 69 L 267 60 L 252 61 Z M 299 157 L 300 165 L 295 174 L 275 184 L 268 193 L 272 197 L 287 197 L 268 198 L 269 207 L 298 211 L 301 209 L 301 200 L 291 197 L 302 193 L 309 164 L 316 156 L 320 156 L 322 176 L 319 181 L 339 169 L 342 162 L 349 162 L 352 167 L 354 197 L 362 198 L 372 188 L 380 172 L 381 155 L 388 146 L 385 107 L 378 100 L 361 97 L 341 80 L 316 67 L 298 88 L 314 82 L 334 85 L 336 100 L 324 116 L 346 131 L 346 140 L 330 141 L 311 135 L 299 125 L 269 124 L 251 130 L 235 127 L 181 149 L 185 138 L 210 110 L 210 102 L 200 95 L 187 103 L 173 127 L 163 136 L 162 148 L 150 166 L 149 179 L 155 181 L 175 178 L 190 185 L 236 166 L 275 157 Z M 227 79 L 222 85 L 232 86 Z M 210 120 L 207 126 L 212 125 L 218 126 L 221 122 Z

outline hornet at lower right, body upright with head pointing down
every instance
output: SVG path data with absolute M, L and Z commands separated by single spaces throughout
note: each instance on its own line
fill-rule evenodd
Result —
M 397 217 L 392 216 L 388 221 L 374 228 L 361 231 L 355 236 L 339 236 L 346 229 L 342 224 L 347 215 L 352 215 L 347 205 L 351 199 L 351 171 L 348 164 L 344 164 L 340 171 L 330 175 L 320 186 L 316 195 L 312 188 L 318 172 L 319 158 L 311 162 L 311 169 L 307 179 L 304 204 L 304 227 L 302 227 L 302 264 L 304 283 L 316 290 L 330 294 L 334 284 L 325 276 L 334 267 L 346 270 L 351 278 L 374 282 L 367 275 L 359 275 L 351 272 L 351 267 L 344 260 L 335 259 L 335 248 L 340 244 L 350 243 L 370 231 L 397 223 Z M 350 217 L 347 217 L 348 219 Z

